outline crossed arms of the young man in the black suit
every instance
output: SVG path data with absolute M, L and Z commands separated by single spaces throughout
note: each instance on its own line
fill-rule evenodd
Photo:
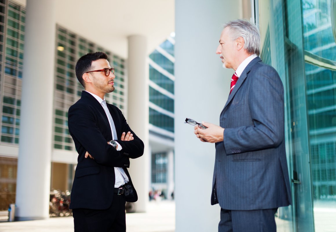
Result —
M 85 159 L 85 154 L 94 157 L 93 162 L 112 167 L 128 167 L 129 158 L 137 158 L 143 154 L 143 142 L 128 126 L 125 117 L 117 109 L 120 118 L 122 136 L 115 140 L 120 144 L 122 150 L 117 151 L 107 143 L 112 139 L 110 130 L 107 130 L 106 123 L 99 120 L 99 113 L 88 104 L 75 104 L 69 109 L 69 132 L 75 142 L 79 154 L 78 163 L 91 162 Z M 127 133 L 126 133 L 127 131 Z M 132 134 L 132 136 L 131 136 Z M 87 160 L 87 161 L 85 161 Z M 90 165 L 88 163 L 88 165 Z

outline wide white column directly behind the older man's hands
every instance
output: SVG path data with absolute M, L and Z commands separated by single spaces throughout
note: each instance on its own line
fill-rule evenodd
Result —
M 216 48 L 221 25 L 240 18 L 240 1 L 175 1 L 176 232 L 218 231 L 219 205 L 210 204 L 215 145 L 196 138 L 184 119 L 219 124 L 233 70 Z M 191 10 L 192 6 L 192 10 Z

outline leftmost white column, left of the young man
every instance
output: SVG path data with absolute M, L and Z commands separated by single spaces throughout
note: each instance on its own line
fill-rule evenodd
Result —
M 55 60 L 53 0 L 27 0 L 16 219 L 49 217 Z

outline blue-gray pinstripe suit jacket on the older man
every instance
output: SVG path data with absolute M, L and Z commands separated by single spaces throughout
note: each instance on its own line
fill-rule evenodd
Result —
M 284 133 L 284 89 L 277 71 L 253 59 L 220 114 L 211 204 L 230 210 L 291 204 Z

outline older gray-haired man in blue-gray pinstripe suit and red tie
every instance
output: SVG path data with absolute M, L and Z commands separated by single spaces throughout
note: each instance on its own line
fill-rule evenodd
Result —
M 216 53 L 232 68 L 219 126 L 195 126 L 215 143 L 211 204 L 221 207 L 219 232 L 276 231 L 275 212 L 292 203 L 285 150 L 284 88 L 260 58 L 258 28 L 245 20 L 223 26 Z

